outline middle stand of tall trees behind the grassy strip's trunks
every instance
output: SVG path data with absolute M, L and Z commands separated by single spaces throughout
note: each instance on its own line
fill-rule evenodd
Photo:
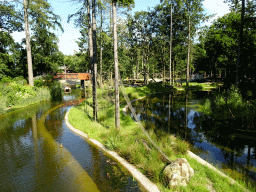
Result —
M 125 6 L 121 1 L 116 2 L 121 77 L 142 78 L 144 73 L 147 77 L 170 77 L 171 68 L 173 78 L 186 79 L 187 71 L 194 70 L 196 31 L 209 18 L 203 14 L 202 1 L 165 0 L 148 11 L 134 14 L 131 12 L 134 4 Z M 80 52 L 89 59 L 87 5 L 84 1 L 69 19 L 80 28 L 81 38 L 77 43 Z M 98 74 L 109 78 L 114 74 L 112 1 L 98 1 L 96 16 Z

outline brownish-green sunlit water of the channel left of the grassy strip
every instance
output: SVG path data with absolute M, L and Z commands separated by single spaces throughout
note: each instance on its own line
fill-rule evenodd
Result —
M 0 117 L 0 191 L 143 191 L 66 127 L 69 109 L 46 102 Z

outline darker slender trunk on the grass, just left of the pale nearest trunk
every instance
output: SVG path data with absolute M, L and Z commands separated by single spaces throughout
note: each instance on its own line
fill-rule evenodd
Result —
M 97 37 L 96 37 L 96 0 L 92 0 L 92 24 L 93 24 L 93 119 L 97 121 Z

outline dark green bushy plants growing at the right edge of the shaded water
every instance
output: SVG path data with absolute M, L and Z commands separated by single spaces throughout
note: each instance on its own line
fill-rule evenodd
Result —
M 221 94 L 203 101 L 202 111 L 215 121 L 234 124 L 242 130 L 254 128 L 255 101 L 243 99 L 238 88 L 232 86 Z

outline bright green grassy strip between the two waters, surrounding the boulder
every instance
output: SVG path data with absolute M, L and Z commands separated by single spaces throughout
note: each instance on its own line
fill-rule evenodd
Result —
M 136 99 L 156 90 L 152 87 L 129 87 L 126 91 L 129 98 Z M 159 87 L 157 91 L 159 91 Z M 99 93 L 100 96 L 98 98 L 104 98 L 99 103 L 108 102 L 104 94 L 103 91 Z M 120 100 L 122 107 L 124 107 L 124 99 L 120 97 Z M 172 191 L 172 189 L 165 187 L 165 182 L 162 178 L 162 170 L 166 164 L 162 161 L 159 153 L 152 147 L 143 132 L 138 128 L 137 124 L 129 116 L 121 113 L 121 128 L 120 130 L 115 130 L 113 103 L 107 103 L 105 109 L 99 112 L 98 123 L 93 122 L 90 119 L 92 114 L 91 102 L 89 99 L 86 103 L 72 108 L 69 113 L 70 123 L 76 129 L 87 133 L 89 138 L 103 143 L 107 149 L 116 151 L 121 157 L 135 165 L 152 182 L 156 183 L 161 191 Z M 157 129 L 154 131 L 160 132 Z M 177 187 L 175 191 L 244 191 L 236 183 L 230 183 L 228 178 L 220 176 L 209 167 L 191 158 L 187 154 L 187 150 L 189 149 L 188 143 L 164 133 L 158 133 L 157 135 L 161 135 L 161 137 L 156 137 L 154 131 L 149 132 L 151 138 L 171 160 L 186 158 L 195 171 L 195 176 L 191 179 L 187 187 Z M 239 183 L 244 187 L 246 186 L 242 181 L 239 181 Z

